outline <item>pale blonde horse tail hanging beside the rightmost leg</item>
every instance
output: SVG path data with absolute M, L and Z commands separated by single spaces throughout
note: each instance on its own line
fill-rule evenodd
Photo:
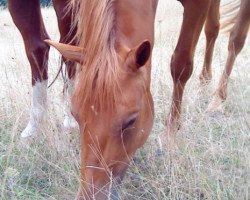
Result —
M 238 17 L 241 0 L 233 0 L 221 6 L 220 31 L 231 32 Z

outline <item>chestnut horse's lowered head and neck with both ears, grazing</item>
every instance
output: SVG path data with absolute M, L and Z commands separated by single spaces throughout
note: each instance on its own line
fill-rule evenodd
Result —
M 151 131 L 157 2 L 74 1 L 78 45 L 46 40 L 79 63 L 72 97 L 81 135 L 79 199 L 117 199 L 130 159 Z

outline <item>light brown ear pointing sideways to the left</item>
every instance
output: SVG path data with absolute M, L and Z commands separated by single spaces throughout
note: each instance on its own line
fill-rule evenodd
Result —
M 44 40 L 47 44 L 55 47 L 66 59 L 78 63 L 84 61 L 84 49 L 81 47 L 54 42 L 52 40 Z

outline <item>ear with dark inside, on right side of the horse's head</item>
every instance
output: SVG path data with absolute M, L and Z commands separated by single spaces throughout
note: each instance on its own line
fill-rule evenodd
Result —
M 131 49 L 128 53 L 127 62 L 133 71 L 144 66 L 151 55 L 151 44 L 148 40 Z

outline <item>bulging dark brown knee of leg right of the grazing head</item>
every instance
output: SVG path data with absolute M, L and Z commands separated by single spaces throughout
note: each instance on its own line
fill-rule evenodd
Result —
M 185 53 L 174 54 L 170 68 L 174 82 L 180 81 L 185 84 L 193 72 L 193 59 L 187 57 Z

